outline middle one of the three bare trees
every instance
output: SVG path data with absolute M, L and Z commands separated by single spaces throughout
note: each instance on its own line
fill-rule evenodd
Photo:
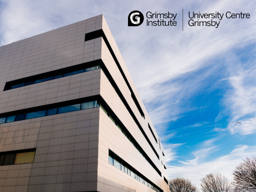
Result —
M 202 192 L 232 192 L 232 184 L 219 173 L 207 174 L 201 179 Z

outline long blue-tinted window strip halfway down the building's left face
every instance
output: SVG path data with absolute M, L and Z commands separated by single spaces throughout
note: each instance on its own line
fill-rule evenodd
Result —
M 95 108 L 95 107 L 99 107 L 98 101 L 90 101 L 90 102 L 85 102 L 85 103 L 80 103 L 80 104 L 63 106 L 63 107 L 59 107 L 59 108 L 52 108 L 52 109 L 50 108 L 50 109 L 42 110 L 42 111 L 35 111 L 35 112 L 29 112 L 26 114 L 18 114 L 18 115 L 14 115 L 14 116 L 3 117 L 3 118 L 0 118 L 0 124 L 14 122 L 14 121 L 21 121 L 21 120 L 25 120 L 25 119 L 32 119 L 32 118 L 37 118 L 37 117 L 43 117 L 43 116 L 48 116 L 48 115 L 55 115 L 55 114 L 60 114 L 60 113 L 67 113 L 67 112 L 72 112 L 72 111 L 90 109 L 90 108 Z

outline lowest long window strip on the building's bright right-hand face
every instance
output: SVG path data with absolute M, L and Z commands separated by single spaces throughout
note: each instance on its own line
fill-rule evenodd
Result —
M 140 174 L 137 170 L 132 168 L 128 163 L 126 163 L 124 160 L 122 160 L 119 156 L 117 156 L 114 152 L 111 150 L 108 150 L 108 163 L 111 165 L 114 165 L 119 170 L 125 172 L 126 174 L 130 175 L 132 178 L 138 180 L 139 182 L 143 183 L 144 185 L 148 186 L 149 188 L 152 188 L 156 192 L 163 192 L 158 187 L 156 187 L 150 180 L 148 180 L 146 177 L 144 177 L 142 174 Z

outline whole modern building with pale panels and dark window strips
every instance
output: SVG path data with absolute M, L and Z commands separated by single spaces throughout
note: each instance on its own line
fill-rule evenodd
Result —
M 162 192 L 165 169 L 103 15 L 0 47 L 0 192 Z

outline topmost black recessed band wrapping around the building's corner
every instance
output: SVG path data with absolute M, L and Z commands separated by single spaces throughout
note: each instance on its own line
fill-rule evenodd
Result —
M 122 70 L 122 68 L 121 68 L 121 66 L 120 66 L 120 64 L 119 64 L 119 62 L 118 62 L 118 60 L 116 58 L 116 55 L 115 55 L 112 47 L 110 46 L 110 44 L 108 42 L 108 39 L 106 38 L 106 35 L 104 34 L 103 30 L 100 29 L 100 30 L 96 30 L 96 31 L 93 31 L 93 32 L 90 32 L 90 33 L 86 33 L 84 41 L 92 40 L 92 39 L 99 38 L 99 37 L 102 37 L 104 39 L 104 42 L 106 43 L 106 45 L 108 47 L 108 50 L 110 51 L 114 61 L 116 62 L 116 65 L 117 65 L 119 71 L 121 72 L 121 74 L 122 74 L 122 76 L 124 78 L 124 81 L 126 82 L 128 88 L 129 88 L 129 90 L 131 92 L 132 99 L 134 100 L 134 103 L 136 104 L 136 106 L 137 106 L 141 116 L 145 119 L 145 115 L 144 115 L 144 113 L 142 111 L 142 108 L 140 107 L 140 104 L 139 104 L 139 102 L 138 102 L 138 100 L 137 100 L 137 98 L 136 98 L 136 96 L 135 96 L 135 94 L 134 94 L 134 92 L 132 90 L 132 87 L 130 86 L 130 84 L 129 84 L 129 82 L 128 82 L 125 74 L 124 74 L 124 71 Z

